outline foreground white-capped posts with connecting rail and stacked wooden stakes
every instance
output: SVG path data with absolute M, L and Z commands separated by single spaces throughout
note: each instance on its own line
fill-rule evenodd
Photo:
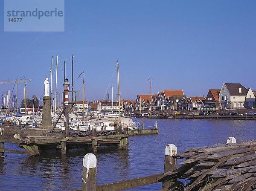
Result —
M 177 159 L 186 159 L 180 168 Z M 86 154 L 82 189 L 77 191 L 121 191 L 157 182 L 162 182 L 161 191 L 255 191 L 256 140 L 236 143 L 229 137 L 227 143 L 189 148 L 184 153 L 177 153 L 177 147 L 169 144 L 163 173 L 105 185 L 96 185 L 96 167 L 96 156 Z

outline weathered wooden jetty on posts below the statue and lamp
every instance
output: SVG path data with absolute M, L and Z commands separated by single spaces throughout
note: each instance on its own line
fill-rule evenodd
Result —
M 125 133 L 126 132 L 126 133 Z M 4 143 L 15 143 L 25 150 L 7 150 L 4 148 Z M 96 130 L 93 132 L 92 136 L 26 136 L 24 138 L 15 134 L 15 139 L 4 139 L 4 129 L 0 128 L 0 156 L 3 153 L 22 153 L 29 155 L 40 154 L 39 150 L 45 148 L 56 148 L 61 150 L 61 154 L 66 154 L 66 148 L 70 146 L 88 147 L 91 146 L 93 152 L 97 152 L 100 146 L 117 146 L 119 149 L 128 148 L 128 134 L 127 130 L 121 133 L 116 133 L 115 135 L 107 136 L 97 136 Z

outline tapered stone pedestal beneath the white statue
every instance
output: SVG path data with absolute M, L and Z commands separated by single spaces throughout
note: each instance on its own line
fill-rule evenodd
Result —
M 41 129 L 52 129 L 51 97 L 44 96 Z

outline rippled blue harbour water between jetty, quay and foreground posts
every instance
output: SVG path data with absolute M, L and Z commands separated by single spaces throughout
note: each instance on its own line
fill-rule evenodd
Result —
M 144 119 L 145 126 L 156 119 Z M 178 152 L 185 148 L 226 142 L 234 136 L 237 141 L 256 139 L 254 121 L 157 119 L 158 135 L 131 136 L 128 150 L 116 148 L 99 150 L 97 156 L 97 184 L 142 177 L 163 172 L 164 149 L 175 144 Z M 207 139 L 206 139 L 207 138 Z M 6 144 L 5 148 L 17 149 Z M 109 151 L 111 150 L 111 151 Z M 9 190 L 73 190 L 81 188 L 83 156 L 90 150 L 69 150 L 67 156 L 48 150 L 40 156 L 29 157 L 6 153 L 0 159 L 0 188 Z M 159 190 L 161 184 L 134 188 L 133 191 Z

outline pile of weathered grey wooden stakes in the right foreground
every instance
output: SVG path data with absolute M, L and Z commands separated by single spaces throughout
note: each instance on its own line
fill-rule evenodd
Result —
M 181 167 L 166 172 L 176 180 L 168 190 L 256 190 L 256 141 L 189 148 L 174 157 L 186 159 Z M 177 179 L 182 184 L 177 186 Z M 186 183 L 184 183 L 186 182 Z

